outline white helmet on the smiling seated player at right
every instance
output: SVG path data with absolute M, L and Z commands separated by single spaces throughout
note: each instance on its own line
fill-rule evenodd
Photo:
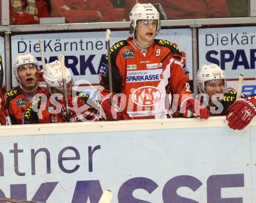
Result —
M 205 82 L 214 79 L 223 79 L 226 88 L 226 76 L 224 71 L 216 64 L 202 65 L 197 71 L 197 86 L 200 92 L 205 88 Z

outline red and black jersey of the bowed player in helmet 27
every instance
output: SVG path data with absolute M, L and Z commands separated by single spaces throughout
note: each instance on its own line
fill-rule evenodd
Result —
M 99 103 L 90 96 L 76 92 L 69 100 L 69 122 L 98 121 Z M 64 104 L 64 105 L 62 105 Z M 24 114 L 24 124 L 47 124 L 66 122 L 64 100 L 55 100 L 51 95 L 40 96 L 32 102 Z

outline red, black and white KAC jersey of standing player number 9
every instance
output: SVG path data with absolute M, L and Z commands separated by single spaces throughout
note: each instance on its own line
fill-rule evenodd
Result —
M 166 118 L 173 97 L 177 106 L 191 97 L 186 86 L 189 70 L 180 50 L 169 41 L 155 39 L 145 56 L 132 38 L 119 41 L 111 48 L 111 61 L 113 91 L 126 97 L 125 113 L 131 119 Z M 108 74 L 106 55 L 99 68 L 104 88 L 100 98 L 109 94 Z

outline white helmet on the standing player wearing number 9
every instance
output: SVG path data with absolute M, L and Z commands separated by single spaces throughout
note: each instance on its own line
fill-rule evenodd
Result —
M 151 3 L 136 3 L 129 13 L 131 26 L 135 29 L 137 20 L 157 20 L 157 32 L 161 27 L 160 17 L 157 9 Z

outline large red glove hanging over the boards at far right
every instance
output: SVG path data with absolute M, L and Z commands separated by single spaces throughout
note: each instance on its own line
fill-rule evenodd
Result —
M 230 107 L 229 114 L 226 116 L 227 125 L 234 130 L 241 130 L 250 124 L 254 115 L 256 115 L 255 105 L 247 98 L 238 99 Z

